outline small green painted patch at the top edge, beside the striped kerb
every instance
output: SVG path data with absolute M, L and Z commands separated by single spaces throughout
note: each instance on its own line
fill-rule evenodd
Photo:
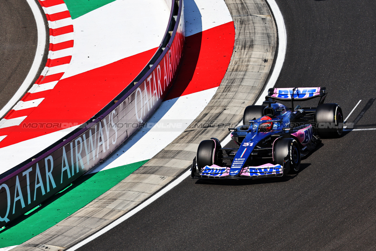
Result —
M 115 0 L 64 0 L 72 19 L 81 17 Z

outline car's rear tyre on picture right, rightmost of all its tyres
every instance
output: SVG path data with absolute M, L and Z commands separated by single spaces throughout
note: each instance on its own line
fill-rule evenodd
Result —
M 335 103 L 317 106 L 315 128 L 321 138 L 338 138 L 343 132 L 343 114 L 340 105 Z

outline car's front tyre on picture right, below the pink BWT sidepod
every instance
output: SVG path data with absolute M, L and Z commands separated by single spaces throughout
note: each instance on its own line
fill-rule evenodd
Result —
M 288 157 L 285 164 L 287 173 L 297 173 L 300 169 L 300 149 L 298 142 L 293 138 L 282 138 L 277 140 L 273 146 L 273 158 L 275 164 L 283 166 L 284 159 Z

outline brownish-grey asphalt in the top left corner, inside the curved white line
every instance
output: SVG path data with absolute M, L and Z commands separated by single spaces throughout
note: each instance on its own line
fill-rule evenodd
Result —
M 37 42 L 35 18 L 26 0 L 0 1 L 0 108 L 13 97 L 29 73 Z M 46 60 L 45 53 L 38 73 Z M 38 77 L 36 74 L 32 84 Z

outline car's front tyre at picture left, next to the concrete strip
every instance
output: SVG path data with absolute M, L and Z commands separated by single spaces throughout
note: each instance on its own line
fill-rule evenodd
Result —
M 219 151 L 219 142 L 215 140 L 203 140 L 201 141 L 199 148 L 197 148 L 197 167 L 200 172 L 205 166 L 211 166 L 212 164 L 222 164 L 222 154 Z

